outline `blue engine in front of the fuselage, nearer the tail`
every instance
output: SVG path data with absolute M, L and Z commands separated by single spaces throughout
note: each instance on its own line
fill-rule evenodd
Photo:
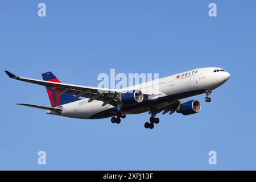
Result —
M 143 93 L 141 90 L 133 90 L 130 93 L 124 93 L 121 101 L 123 105 L 133 105 L 143 101 Z

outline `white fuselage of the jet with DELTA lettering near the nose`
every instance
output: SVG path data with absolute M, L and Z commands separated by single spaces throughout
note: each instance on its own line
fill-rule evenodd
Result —
M 221 71 L 214 72 L 216 69 Z M 144 82 L 142 84 L 130 86 L 128 88 L 123 88 L 122 90 L 141 90 L 142 93 L 154 93 L 154 96 L 149 96 L 148 100 L 155 100 L 155 104 L 160 105 L 162 103 L 166 104 L 168 99 L 172 96 L 177 99 L 181 99 L 185 98 L 186 96 L 190 97 L 204 93 L 205 90 L 216 89 L 218 86 L 224 84 L 224 82 L 228 80 L 229 76 L 229 73 L 222 71 L 221 68 L 199 68 L 193 69 L 192 71 L 159 78 L 158 80 Z M 166 98 L 166 100 L 164 100 L 164 98 Z M 47 113 L 71 118 L 91 119 L 93 118 L 93 115 L 115 109 L 113 105 L 109 104 L 102 106 L 102 101 L 93 100 L 92 102 L 88 102 L 88 100 L 89 98 L 84 98 L 79 101 L 61 105 L 63 107 L 63 112 L 61 114 L 56 114 L 52 111 L 47 111 Z M 134 106 L 133 109 L 127 110 L 126 113 L 136 114 L 150 110 L 150 107 L 148 106 L 147 108 L 141 107 L 143 107 L 143 102 L 140 103 L 139 108 Z M 105 116 L 103 114 L 98 118 L 106 117 L 109 117 L 109 115 L 106 114 Z

